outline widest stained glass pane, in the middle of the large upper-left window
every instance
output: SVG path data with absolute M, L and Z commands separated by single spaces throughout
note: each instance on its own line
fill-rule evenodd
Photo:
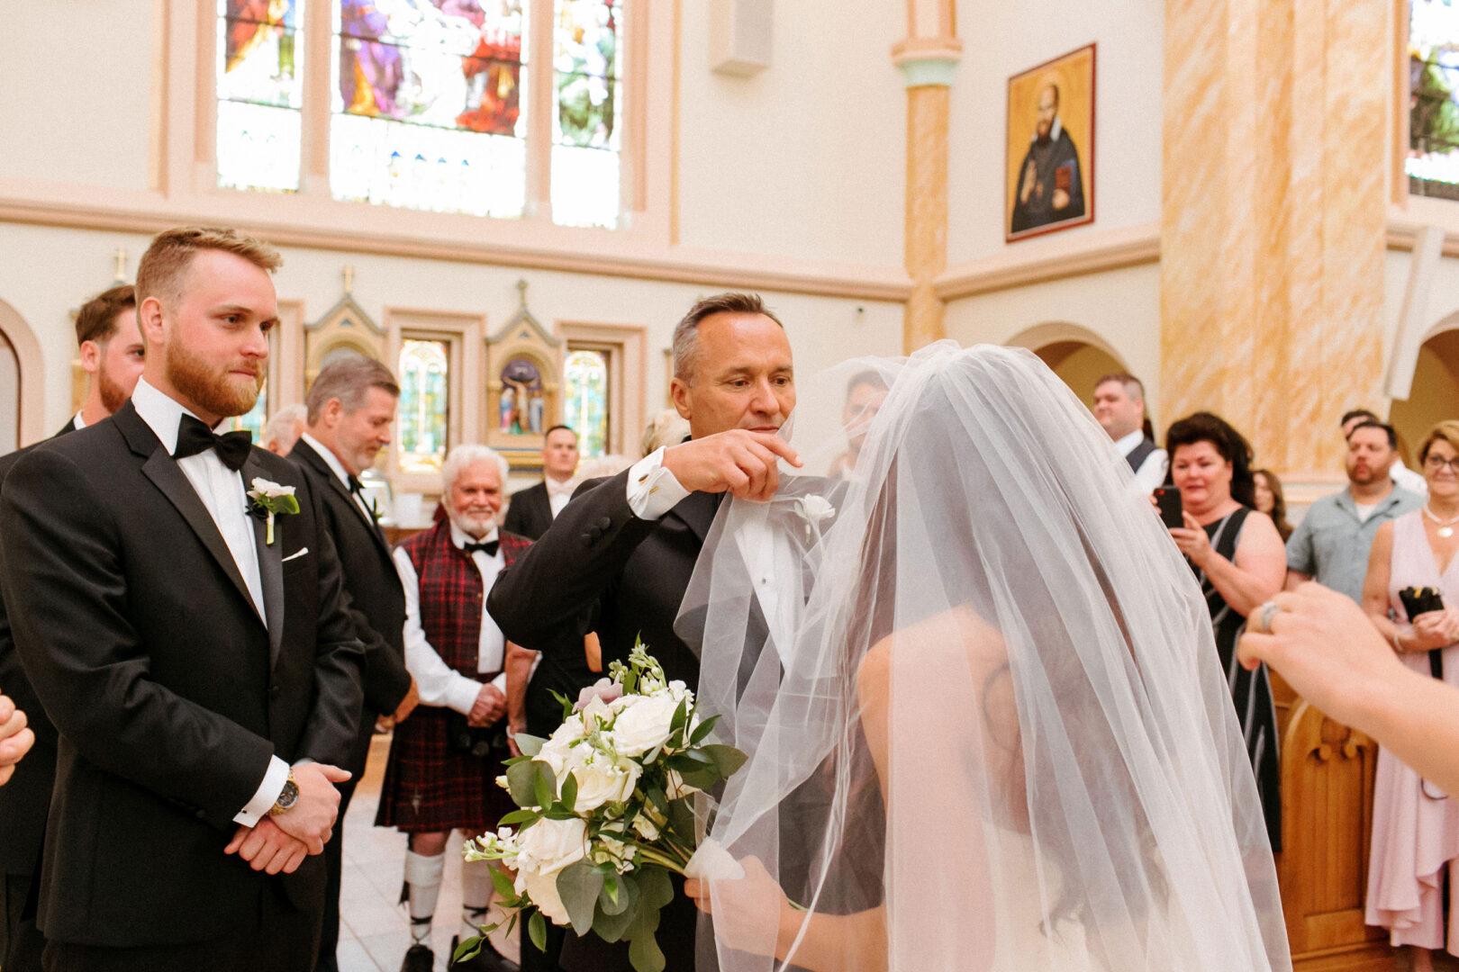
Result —
M 522 0 L 334 0 L 334 198 L 521 216 L 527 22 Z

